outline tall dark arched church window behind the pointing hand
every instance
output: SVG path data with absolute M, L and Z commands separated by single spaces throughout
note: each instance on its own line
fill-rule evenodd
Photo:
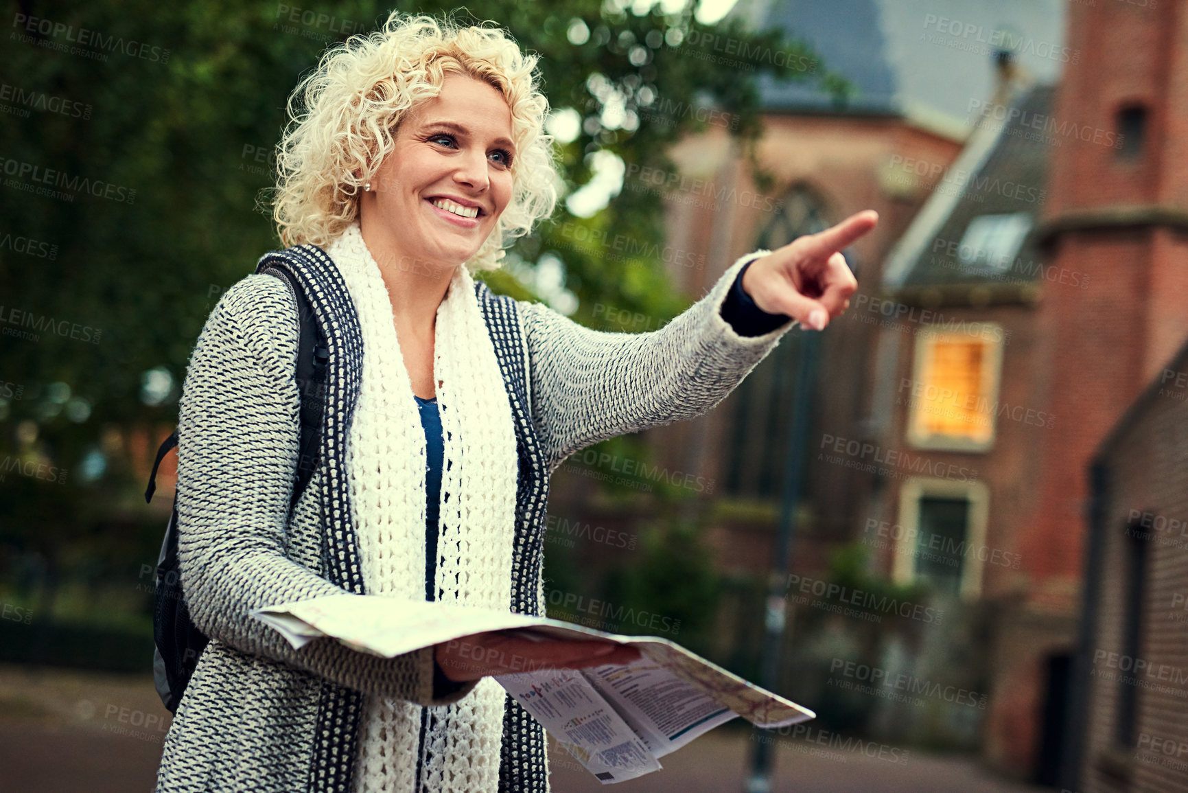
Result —
M 776 250 L 829 224 L 823 202 L 808 185 L 789 190 L 779 209 L 759 231 L 756 247 Z M 731 395 L 727 430 L 726 493 L 742 498 L 779 497 L 784 445 L 791 421 L 800 334 L 789 334 Z

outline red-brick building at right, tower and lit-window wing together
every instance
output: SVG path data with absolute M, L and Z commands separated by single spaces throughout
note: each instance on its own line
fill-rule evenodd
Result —
M 911 477 L 887 503 L 871 503 L 899 527 L 889 562 L 898 580 L 955 579 L 950 586 L 990 615 L 982 751 L 992 766 L 1043 782 L 1070 762 L 1082 471 L 1188 334 L 1188 105 L 1175 89 L 1188 84 L 1183 5 L 1072 4 L 1069 14 L 1068 48 L 1081 57 L 1066 65 L 1055 96 L 1037 88 L 1009 102 L 1009 121 L 980 161 L 971 139 L 962 158 L 980 170 L 956 175 L 955 203 L 930 200 L 884 275 L 898 303 L 949 313 L 939 333 L 916 333 L 901 354 L 897 383 L 921 395 L 893 401 L 885 442 L 948 470 L 977 470 L 978 482 Z M 979 187 L 996 180 L 1041 191 L 1004 201 Z M 1012 270 L 1034 283 L 1000 281 Z M 1001 333 L 954 333 L 953 319 Z M 982 407 L 997 417 L 978 416 Z M 968 554 L 952 567 L 936 554 L 925 560 L 936 536 L 986 548 L 991 564 Z M 994 565 L 996 554 L 1010 564 Z

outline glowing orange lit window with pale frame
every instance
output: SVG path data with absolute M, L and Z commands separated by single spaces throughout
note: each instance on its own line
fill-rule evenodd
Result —
M 901 382 L 897 402 L 908 407 L 908 441 L 921 448 L 981 452 L 994 442 L 1003 363 L 1001 327 L 980 332 L 921 332 L 915 372 Z

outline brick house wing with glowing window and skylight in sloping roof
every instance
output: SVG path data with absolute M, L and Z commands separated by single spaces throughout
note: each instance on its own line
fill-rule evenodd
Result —
M 981 615 L 986 635 L 971 654 L 981 662 L 955 662 L 961 648 L 941 643 L 911 666 L 988 690 L 984 753 L 1029 775 L 1047 690 L 1032 666 L 1067 656 L 1075 632 L 1072 613 L 1029 603 L 1036 560 L 1024 547 L 1043 452 L 1076 423 L 1050 407 L 1045 373 L 1060 359 L 1041 317 L 1054 292 L 1075 297 L 1092 277 L 1059 270 L 1037 246 L 1062 141 L 1028 134 L 1032 119 L 1053 118 L 1053 89 L 1011 88 L 889 254 L 884 294 L 858 307 L 879 328 L 872 367 L 885 373 L 871 403 L 876 451 L 890 461 L 860 536 L 898 584 L 927 583 L 971 625 Z

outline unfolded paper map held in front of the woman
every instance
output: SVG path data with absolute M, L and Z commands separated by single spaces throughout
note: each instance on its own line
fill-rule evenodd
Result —
M 493 630 L 545 641 L 599 638 L 639 649 L 632 663 L 533 669 L 495 680 L 605 785 L 659 770 L 659 757 L 738 716 L 763 728 L 816 715 L 751 685 L 680 644 L 620 636 L 560 619 L 368 594 L 331 594 L 257 609 L 295 648 L 328 636 L 394 657 Z

